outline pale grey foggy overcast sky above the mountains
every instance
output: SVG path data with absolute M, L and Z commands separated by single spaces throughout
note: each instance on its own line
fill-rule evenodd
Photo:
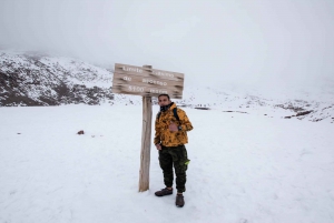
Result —
M 0 0 L 0 45 L 189 83 L 310 83 L 334 75 L 334 0 Z

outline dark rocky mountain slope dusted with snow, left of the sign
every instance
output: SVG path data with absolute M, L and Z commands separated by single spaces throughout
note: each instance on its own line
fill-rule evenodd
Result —
M 0 51 L 0 74 L 1 107 L 112 100 L 110 71 L 69 58 Z

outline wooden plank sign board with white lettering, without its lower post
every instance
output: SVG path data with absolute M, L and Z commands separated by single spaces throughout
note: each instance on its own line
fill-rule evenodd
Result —
M 115 64 L 112 93 L 158 97 L 167 93 L 173 99 L 181 99 L 183 73 L 163 71 L 148 67 Z

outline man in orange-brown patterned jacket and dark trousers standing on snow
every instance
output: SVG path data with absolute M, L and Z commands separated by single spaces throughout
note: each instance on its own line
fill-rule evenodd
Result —
M 168 94 L 160 94 L 158 104 L 160 105 L 160 112 L 156 118 L 154 143 L 159 151 L 159 163 L 166 187 L 155 194 L 157 196 L 173 194 L 174 166 L 177 189 L 175 204 L 181 207 L 185 205 L 183 192 L 186 191 L 186 171 L 189 163 L 185 144 L 188 143 L 187 131 L 193 130 L 193 125 L 186 112 L 178 109 L 170 101 Z

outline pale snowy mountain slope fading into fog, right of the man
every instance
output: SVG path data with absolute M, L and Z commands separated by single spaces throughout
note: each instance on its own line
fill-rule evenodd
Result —
M 330 92 L 328 89 L 323 91 L 326 92 L 326 97 L 323 97 L 323 92 L 310 93 L 311 91 L 273 97 L 269 93 L 228 85 L 204 89 L 190 87 L 185 92 L 185 99 L 176 102 L 196 109 L 218 109 L 223 112 L 334 123 L 334 93 L 331 89 Z

